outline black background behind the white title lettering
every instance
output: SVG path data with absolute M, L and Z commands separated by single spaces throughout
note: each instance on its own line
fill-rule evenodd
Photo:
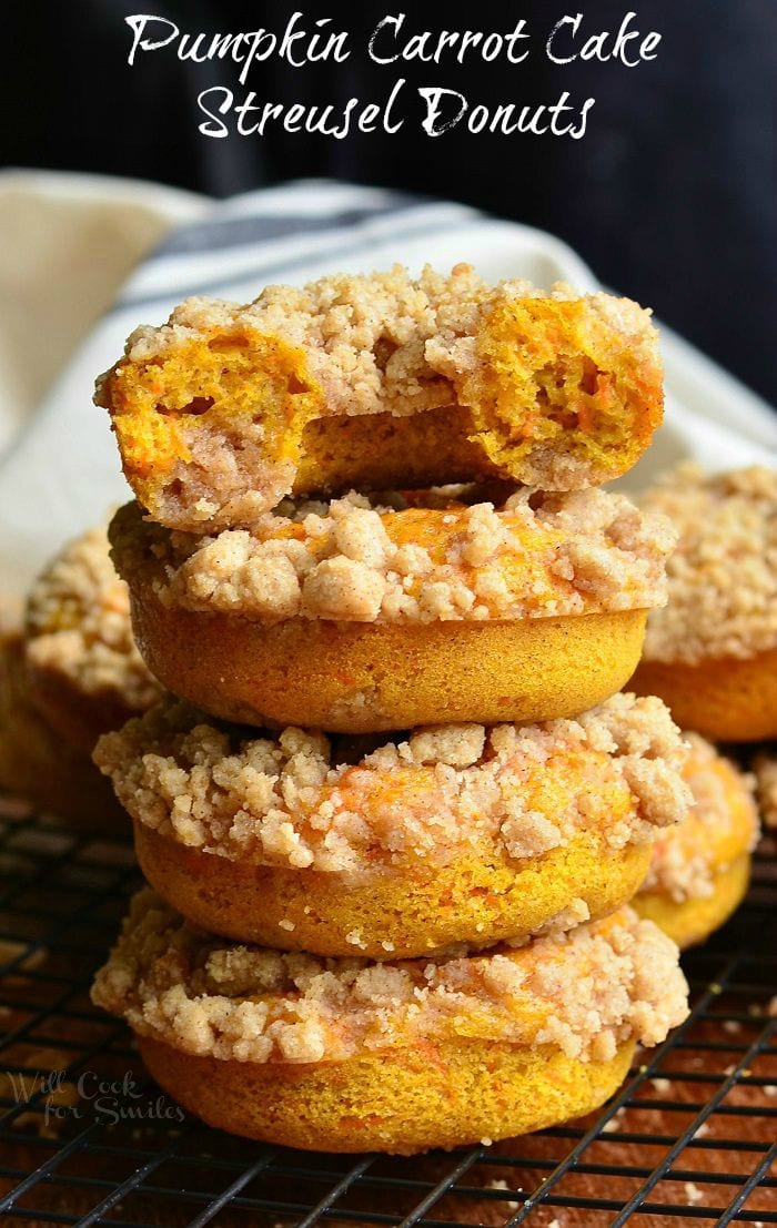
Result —
M 556 232 L 610 286 L 654 307 L 666 323 L 777 400 L 775 81 L 777 0 L 632 0 L 636 27 L 664 37 L 650 64 L 554 68 L 541 50 L 564 14 L 584 29 L 617 29 L 616 0 L 439 0 L 298 4 L 283 0 L 5 0 L 0 80 L 6 165 L 139 176 L 215 195 L 325 174 L 479 205 Z M 127 65 L 124 16 L 151 12 L 181 31 L 280 33 L 291 12 L 331 16 L 352 33 L 347 64 L 256 66 L 263 101 L 381 101 L 397 75 L 459 88 L 471 103 L 553 102 L 589 96 L 586 136 L 471 135 L 462 125 L 429 139 L 407 122 L 395 136 L 337 141 L 273 129 L 264 139 L 198 134 L 200 90 L 242 95 L 227 64 L 179 63 L 167 50 Z M 535 33 L 519 66 L 470 60 L 381 68 L 366 50 L 385 14 L 404 29 L 497 29 L 525 17 Z M 577 45 L 580 45 L 579 43 Z M 575 109 L 577 109 L 575 107 Z M 403 112 L 404 113 L 404 112 Z M 465 255 L 466 253 L 462 253 Z

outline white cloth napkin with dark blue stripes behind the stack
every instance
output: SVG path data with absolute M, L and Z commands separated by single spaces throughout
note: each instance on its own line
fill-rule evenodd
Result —
M 135 201 L 141 189 L 133 185 Z M 160 208 L 164 189 L 148 192 L 151 208 Z M 167 195 L 160 216 L 165 226 L 176 217 L 181 223 L 130 274 L 113 308 L 0 458 L 6 605 L 65 538 L 128 497 L 108 415 L 92 405 L 93 381 L 120 355 L 134 327 L 162 323 L 181 298 L 205 293 L 247 301 L 268 282 L 302 284 L 393 262 L 418 271 L 424 263 L 445 269 L 468 260 L 489 279 L 529 278 L 541 286 L 563 280 L 583 291 L 599 285 L 552 235 L 384 189 L 302 181 L 220 203 L 176 196 L 172 205 Z M 77 269 L 70 276 L 77 300 Z M 777 463 L 777 416 L 770 408 L 671 332 L 664 328 L 661 335 L 666 421 L 629 485 L 638 488 L 684 457 L 711 469 Z M 45 349 L 45 336 L 39 344 Z

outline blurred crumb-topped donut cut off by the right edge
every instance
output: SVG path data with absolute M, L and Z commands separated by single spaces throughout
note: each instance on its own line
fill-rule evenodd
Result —
M 642 500 L 680 533 L 633 686 L 722 742 L 777 736 L 777 470 L 684 465 Z

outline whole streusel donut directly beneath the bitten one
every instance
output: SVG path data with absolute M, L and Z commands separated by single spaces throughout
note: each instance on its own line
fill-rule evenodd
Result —
M 674 533 L 623 496 L 282 503 L 251 532 L 111 527 L 149 667 L 248 725 L 363 733 L 573 716 L 633 672 Z M 468 502 L 467 502 L 468 500 Z

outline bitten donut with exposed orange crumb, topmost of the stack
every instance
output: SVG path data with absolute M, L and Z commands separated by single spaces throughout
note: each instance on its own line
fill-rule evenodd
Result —
M 401 266 L 189 298 L 97 382 L 151 518 L 247 527 L 289 494 L 507 478 L 617 478 L 663 413 L 649 312 L 627 298 L 488 286 Z

